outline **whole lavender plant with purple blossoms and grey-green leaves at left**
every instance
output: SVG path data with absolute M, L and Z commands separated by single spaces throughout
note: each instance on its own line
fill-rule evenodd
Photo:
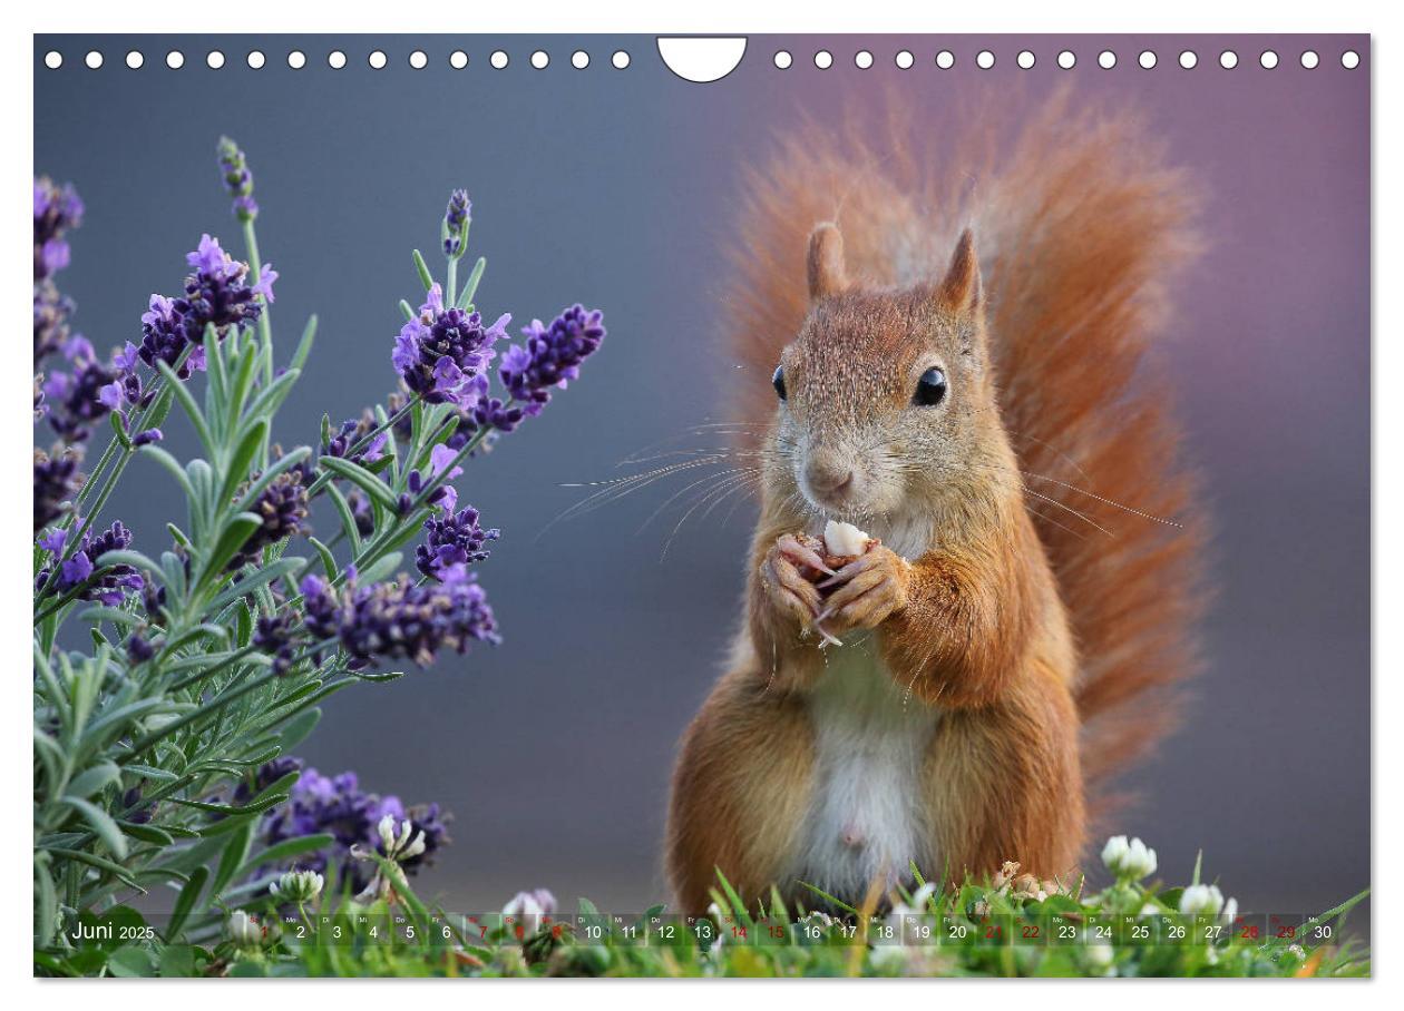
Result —
M 282 362 L 253 174 L 227 139 L 218 157 L 246 258 L 204 234 L 180 289 L 153 294 L 107 359 L 72 330 L 74 304 L 55 280 L 83 203 L 72 186 L 34 185 L 35 423 L 52 432 L 34 457 L 41 972 L 102 970 L 102 952 L 76 948 L 72 930 L 136 916 L 125 903 L 153 889 L 174 889 L 168 944 L 218 934 L 236 911 L 247 923 L 244 909 L 270 895 L 320 890 L 323 872 L 352 892 L 395 881 L 379 864 L 413 874 L 446 844 L 437 806 L 365 794 L 354 773 L 322 777 L 291 753 L 333 693 L 403 674 L 386 665 L 501 641 L 473 572 L 500 531 L 459 508 L 452 481 L 536 416 L 605 335 L 601 313 L 577 304 L 532 321 L 498 356 L 511 320 L 487 324 L 476 308 L 486 259 L 459 283 L 472 205 L 455 191 L 444 279 L 413 254 L 424 296 L 400 306 L 400 388 L 282 450 L 275 416 L 316 317 Z M 160 445 L 173 421 L 194 430 L 199 456 Z M 104 422 L 111 436 L 86 467 Z M 168 543 L 138 544 L 105 515 L 129 468 L 178 492 Z M 330 534 L 317 536 L 314 513 Z M 402 561 L 416 538 L 411 575 Z

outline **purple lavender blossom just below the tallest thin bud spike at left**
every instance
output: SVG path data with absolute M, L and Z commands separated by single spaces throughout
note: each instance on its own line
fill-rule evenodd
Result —
M 187 254 L 192 272 L 185 278 L 185 293 L 176 299 L 153 294 L 150 307 L 142 314 L 142 360 L 154 366 L 157 360 L 174 367 L 188 345 L 197 345 L 190 359 L 177 370 L 181 379 L 204 369 L 199 346 L 205 327 L 213 324 L 219 339 L 232 327 L 251 325 L 263 313 L 258 297 L 272 301 L 272 282 L 278 272 L 265 265 L 258 282 L 249 285 L 249 265 L 225 252 L 218 238 L 201 236 L 199 248 Z

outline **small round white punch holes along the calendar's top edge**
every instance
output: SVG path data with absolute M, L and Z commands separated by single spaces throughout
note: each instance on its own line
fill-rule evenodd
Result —
M 292 67 L 293 70 L 302 70 L 307 65 L 307 55 L 300 49 L 291 50 L 286 59 L 288 59 L 288 66 Z M 1033 50 L 1031 49 L 1021 49 L 1014 59 L 1015 63 L 1022 70 L 1032 70 L 1033 66 L 1038 63 L 1038 56 L 1035 56 Z M 1061 52 L 1057 53 L 1056 60 L 1061 69 L 1071 70 L 1073 67 L 1077 66 L 1077 53 L 1074 53 L 1071 49 L 1063 49 Z M 84 66 L 87 66 L 90 70 L 100 69 L 102 66 L 102 62 L 104 62 L 102 53 L 98 52 L 97 49 L 88 50 L 87 55 L 83 57 Z M 244 56 L 244 62 L 249 65 L 251 70 L 261 70 L 267 65 L 268 57 L 261 50 L 254 49 Z M 366 63 L 371 66 L 372 70 L 383 70 L 386 66 L 389 66 L 389 62 L 390 57 L 386 56 L 386 53 L 380 49 L 375 49 L 366 56 Z M 430 57 L 428 53 L 425 53 L 423 49 L 416 49 L 409 55 L 407 62 L 411 69 L 424 70 L 430 65 Z M 508 66 L 511 57 L 507 55 L 505 50 L 496 49 L 491 52 L 491 55 L 489 55 L 487 62 L 494 70 L 503 70 Z M 531 53 L 529 62 L 531 66 L 535 67 L 536 70 L 545 70 L 548 66 L 550 66 L 550 55 L 546 53 L 546 50 L 543 49 L 536 49 Z M 795 65 L 795 56 L 788 49 L 781 49 L 775 53 L 772 62 L 775 63 L 776 69 L 789 70 Z M 1118 56 L 1112 49 L 1104 49 L 1097 55 L 1097 65 L 1104 70 L 1111 70 L 1112 67 L 1116 66 L 1116 62 Z M 1153 49 L 1143 49 L 1140 53 L 1137 53 L 1136 62 L 1141 69 L 1153 70 L 1160 63 L 1160 56 Z M 1258 63 L 1265 70 L 1272 70 L 1273 67 L 1278 66 L 1279 62 L 1280 57 L 1272 49 L 1264 49 L 1258 55 Z M 1314 49 L 1306 49 L 1302 52 L 1299 62 L 1304 69 L 1314 70 L 1317 66 L 1320 66 L 1321 56 Z M 146 57 L 140 50 L 132 49 L 131 52 L 126 53 L 125 63 L 132 70 L 140 70 L 142 66 L 146 63 Z M 208 66 L 211 70 L 219 70 L 225 66 L 225 63 L 226 63 L 225 53 L 220 52 L 219 49 L 212 49 L 208 53 L 205 53 L 205 66 Z M 348 57 L 343 50 L 333 49 L 330 53 L 327 53 L 327 66 L 331 67 L 333 70 L 341 70 L 343 67 L 347 66 L 347 63 Z M 462 70 L 469 63 L 468 53 L 463 52 L 462 49 L 455 49 L 452 53 L 449 53 L 448 63 L 455 70 Z M 616 70 L 623 70 L 625 67 L 628 67 L 629 66 L 628 50 L 616 49 L 609 56 L 609 63 Z M 854 55 L 854 66 L 856 66 L 859 70 L 868 70 L 873 66 L 873 63 L 875 57 L 872 52 L 868 49 L 859 49 Z M 915 66 L 917 57 L 911 53 L 910 49 L 901 49 L 893 57 L 893 63 L 900 70 L 910 70 L 911 67 Z M 1185 70 L 1192 70 L 1199 65 L 1199 55 L 1193 49 L 1185 49 L 1179 53 L 1178 63 Z M 942 49 L 935 56 L 935 65 L 942 70 L 949 70 L 956 65 L 956 56 L 949 49 Z M 988 49 L 981 49 L 979 53 L 976 53 L 974 65 L 981 70 L 990 70 L 995 65 L 995 55 Z M 44 55 L 44 66 L 46 66 L 49 70 L 58 70 L 59 67 L 63 66 L 63 53 L 58 52 L 56 49 L 51 49 Z M 166 66 L 170 67 L 171 70 L 180 70 L 183 66 L 185 66 L 185 55 L 178 49 L 171 49 L 170 52 L 166 53 Z M 570 66 L 573 66 L 577 70 L 584 70 L 585 67 L 590 66 L 590 53 L 587 53 L 584 49 L 574 50 L 570 55 Z M 814 66 L 820 70 L 828 70 L 831 66 L 834 66 L 834 55 L 827 49 L 820 49 L 819 52 L 814 53 Z M 1238 66 L 1238 53 L 1234 52 L 1233 49 L 1224 49 L 1223 52 L 1219 53 L 1219 66 L 1221 66 L 1226 70 L 1233 70 L 1234 67 Z M 1341 53 L 1341 66 L 1345 67 L 1346 70 L 1353 70 L 1355 67 L 1360 66 L 1360 55 L 1353 49 L 1346 49 L 1344 53 Z

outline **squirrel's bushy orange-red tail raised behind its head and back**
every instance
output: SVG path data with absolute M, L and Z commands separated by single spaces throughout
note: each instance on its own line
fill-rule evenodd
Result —
M 1172 687 L 1198 663 L 1203 527 L 1174 390 L 1146 356 L 1196 248 L 1195 201 L 1129 115 L 1064 93 L 1015 136 L 998 114 L 972 119 L 894 114 L 876 142 L 809 128 L 751 172 L 724 299 L 744 366 L 736 414 L 748 432 L 771 418 L 814 224 L 837 222 L 849 276 L 879 286 L 939 278 L 974 229 L 1001 415 L 1082 658 L 1082 770 L 1105 815 L 1108 780 L 1170 729 Z

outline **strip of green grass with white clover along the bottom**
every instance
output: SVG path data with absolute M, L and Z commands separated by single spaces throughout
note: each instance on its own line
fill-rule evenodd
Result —
M 1008 869 L 1008 868 L 1007 868 Z M 1198 868 L 1195 881 L 1198 883 Z M 915 876 L 918 886 L 922 883 Z M 688 920 L 657 906 L 601 913 L 468 920 L 427 907 L 411 890 L 395 903 L 348 899 L 260 914 L 261 937 L 241 945 L 98 939 L 65 956 L 35 956 L 42 975 L 111 976 L 1369 976 L 1369 951 L 1346 931 L 1362 892 L 1304 921 L 1251 914 L 1182 916 L 1181 888 L 1120 881 L 1087 893 L 1081 882 L 1028 896 L 1015 874 L 878 889 L 854 909 L 810 889 L 816 907 L 790 910 L 778 893 L 747 906 L 717 875 L 710 916 Z M 1021 897 L 1022 895 L 1022 897 Z M 879 913 L 879 904 L 889 910 Z M 142 917 L 107 923 L 142 934 Z

